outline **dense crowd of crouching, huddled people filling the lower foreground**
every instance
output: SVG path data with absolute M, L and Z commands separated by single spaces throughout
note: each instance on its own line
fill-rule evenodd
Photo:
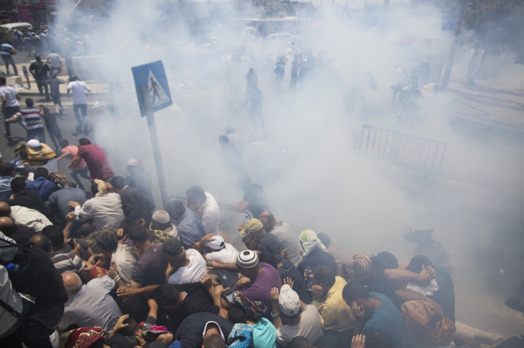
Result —
M 328 234 L 295 234 L 244 174 L 231 207 L 253 217 L 226 240 L 202 187 L 155 210 L 140 160 L 124 178 L 89 138 L 62 145 L 89 193 L 36 139 L 0 163 L 2 347 L 522 347 L 456 320 L 432 230 L 407 232 L 405 262 L 348 255 Z

